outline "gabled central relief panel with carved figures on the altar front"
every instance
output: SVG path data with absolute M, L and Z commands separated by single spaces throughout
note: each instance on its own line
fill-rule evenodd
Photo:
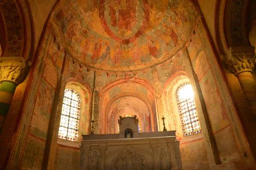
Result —
M 153 159 L 151 153 L 134 147 L 123 147 L 106 156 L 107 170 L 151 170 Z

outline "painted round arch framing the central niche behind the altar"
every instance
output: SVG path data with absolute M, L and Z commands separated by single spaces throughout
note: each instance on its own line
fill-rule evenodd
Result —
M 130 89 L 128 89 L 128 87 L 125 87 L 126 85 L 131 85 Z M 140 88 L 140 90 L 144 92 L 137 91 L 137 88 Z M 116 82 L 110 82 L 108 85 L 102 88 L 100 97 L 99 97 L 100 99 L 99 110 L 102 113 L 100 118 L 101 119 L 100 126 L 102 129 L 102 133 L 110 133 L 109 131 L 107 131 L 107 126 L 108 126 L 107 122 L 108 122 L 109 109 L 111 108 L 111 105 L 113 104 L 113 102 L 125 97 L 135 97 L 140 101 L 142 101 L 143 103 L 145 103 L 145 106 L 147 106 L 148 112 L 149 112 L 148 116 L 150 117 L 150 121 L 148 122 L 147 120 L 147 122 L 148 124 L 151 125 L 150 129 L 146 131 L 155 131 L 157 128 L 157 121 L 156 121 L 157 116 L 154 108 L 154 105 L 155 105 L 154 96 L 155 95 L 154 95 L 153 88 L 151 84 L 146 80 L 120 79 Z M 142 117 L 139 115 L 137 115 L 137 117 L 139 117 L 139 119 L 142 119 Z

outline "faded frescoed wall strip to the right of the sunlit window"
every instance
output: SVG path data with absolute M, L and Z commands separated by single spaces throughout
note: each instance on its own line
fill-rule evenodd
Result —
M 231 167 L 254 166 L 249 163 L 253 159 L 250 151 L 247 150 L 248 146 L 245 145 L 247 139 L 244 137 L 235 105 L 232 102 L 232 96 L 228 93 L 227 85 L 221 75 L 212 46 L 207 39 L 206 31 L 199 24 L 195 28 L 195 32 L 195 39 L 192 40 L 190 45 L 193 48 L 198 42 L 199 48 L 197 48 L 197 52 L 190 50 L 190 57 L 203 93 L 210 119 L 209 123 L 212 126 L 220 160 L 223 164 L 222 167 L 228 169 L 230 168 L 229 164 L 231 164 Z M 245 159 L 242 155 L 244 151 L 241 150 L 247 150 L 250 156 Z M 210 166 L 212 167 L 212 165 Z M 221 166 L 219 165 L 219 167 Z

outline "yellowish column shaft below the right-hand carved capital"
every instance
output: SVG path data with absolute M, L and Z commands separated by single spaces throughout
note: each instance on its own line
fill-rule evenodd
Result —
M 256 81 L 249 71 L 238 74 L 237 79 L 244 92 L 245 99 L 250 107 L 250 110 L 256 116 Z

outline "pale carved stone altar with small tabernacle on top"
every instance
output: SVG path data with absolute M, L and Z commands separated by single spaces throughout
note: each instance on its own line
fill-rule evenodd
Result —
M 118 134 L 83 135 L 81 170 L 182 170 L 175 131 L 134 132 L 136 120 L 127 120 Z M 125 129 L 132 138 L 125 138 Z

